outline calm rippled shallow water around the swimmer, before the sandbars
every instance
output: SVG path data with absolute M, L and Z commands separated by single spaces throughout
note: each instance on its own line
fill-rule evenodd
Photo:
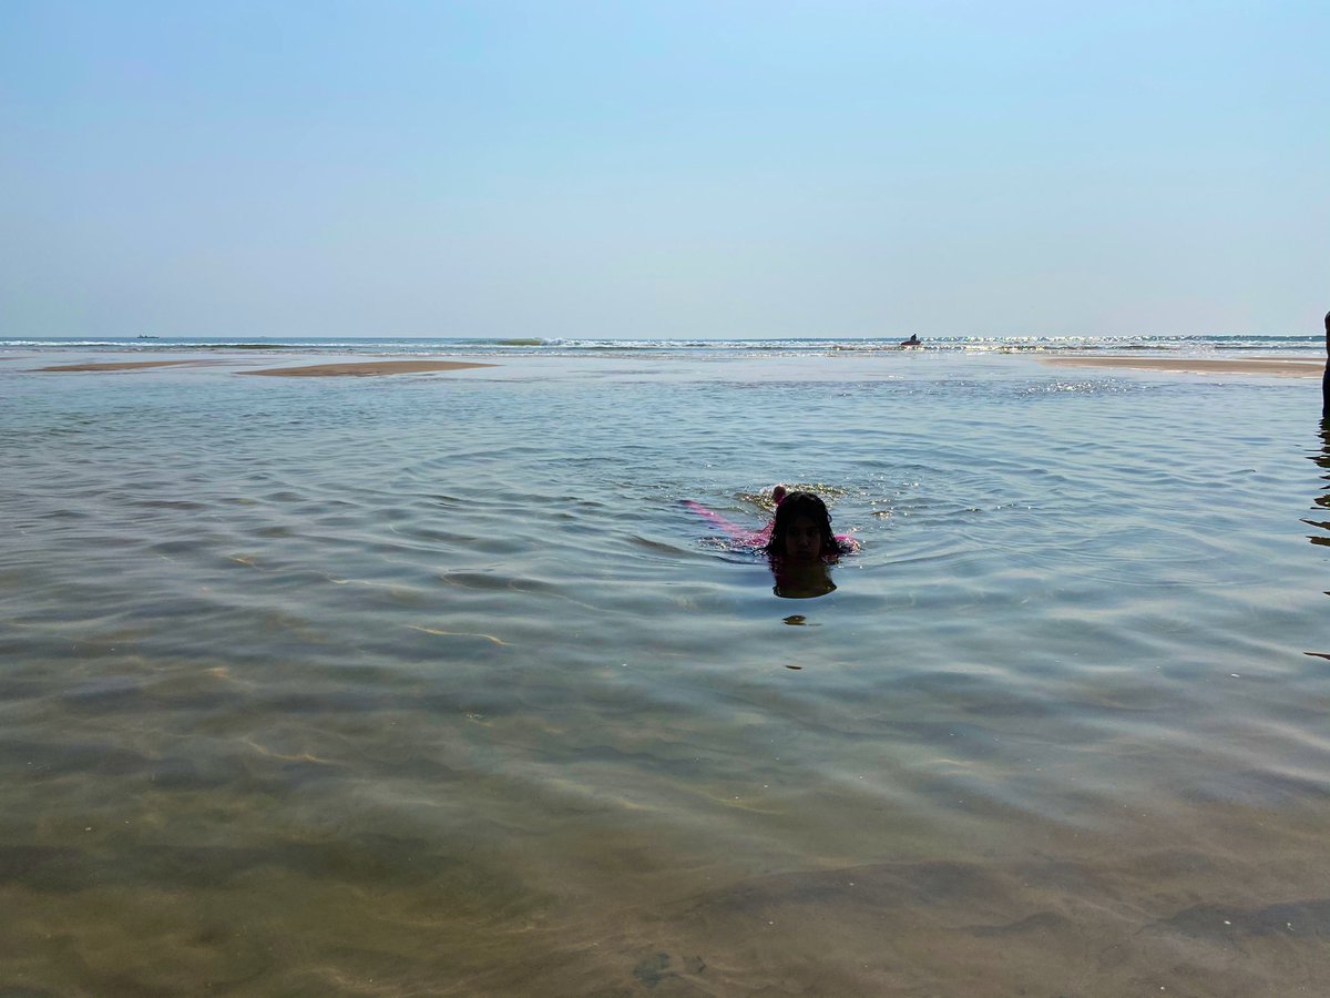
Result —
M 0 367 L 0 989 L 1330 970 L 1313 382 L 223 359 Z M 680 503 L 775 482 L 862 543 L 827 596 Z

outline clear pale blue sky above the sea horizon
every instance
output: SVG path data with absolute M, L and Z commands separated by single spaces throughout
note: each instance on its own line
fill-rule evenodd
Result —
M 0 0 L 5 339 L 1327 307 L 1325 0 Z

